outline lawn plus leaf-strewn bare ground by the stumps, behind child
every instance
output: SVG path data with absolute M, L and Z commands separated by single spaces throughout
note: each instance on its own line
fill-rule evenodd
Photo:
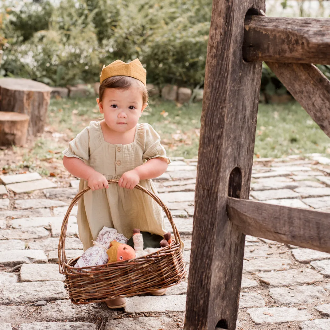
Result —
M 150 123 L 160 134 L 169 156 L 195 158 L 198 154 L 202 104 L 176 105 L 151 100 L 141 122 Z M 8 172 L 28 168 L 48 176 L 60 175 L 62 150 L 91 120 L 99 120 L 95 98 L 54 99 L 42 136 L 30 139 L 25 148 L 0 150 Z M 330 138 L 298 103 L 259 105 L 255 157 L 283 157 L 318 152 L 330 154 Z

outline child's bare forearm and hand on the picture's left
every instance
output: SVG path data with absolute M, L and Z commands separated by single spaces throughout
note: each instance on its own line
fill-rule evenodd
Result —
M 81 159 L 64 156 L 63 165 L 73 176 L 87 180 L 91 190 L 109 188 L 109 183 L 105 176 L 85 164 Z

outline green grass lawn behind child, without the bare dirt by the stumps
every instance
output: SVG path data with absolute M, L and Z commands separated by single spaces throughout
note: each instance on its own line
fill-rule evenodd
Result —
M 194 158 L 198 154 L 202 104 L 177 106 L 151 100 L 140 122 L 148 122 L 160 134 L 170 156 Z M 73 138 L 100 114 L 95 99 L 52 100 L 49 124 Z M 64 147 L 64 146 L 63 146 Z M 296 103 L 259 104 L 255 157 L 283 157 L 291 154 L 330 153 L 330 138 Z

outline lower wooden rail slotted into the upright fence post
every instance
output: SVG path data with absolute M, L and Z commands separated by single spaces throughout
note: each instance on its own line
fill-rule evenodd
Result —
M 228 198 L 229 219 L 246 235 L 330 253 L 330 213 Z

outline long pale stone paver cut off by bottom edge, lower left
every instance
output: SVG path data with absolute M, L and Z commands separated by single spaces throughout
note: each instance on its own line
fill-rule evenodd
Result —
M 19 330 L 97 330 L 96 324 L 85 322 L 22 323 Z

